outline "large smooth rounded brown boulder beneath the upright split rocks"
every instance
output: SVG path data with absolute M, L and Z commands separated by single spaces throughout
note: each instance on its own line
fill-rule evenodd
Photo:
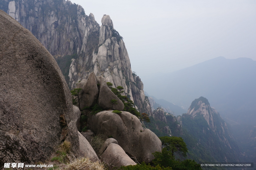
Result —
M 149 163 L 154 159 L 152 153 L 161 152 L 159 138 L 149 129 L 143 130 L 140 120 L 129 112 L 116 114 L 111 110 L 89 115 L 88 128 L 96 134 L 113 136 L 127 155 L 139 162 Z

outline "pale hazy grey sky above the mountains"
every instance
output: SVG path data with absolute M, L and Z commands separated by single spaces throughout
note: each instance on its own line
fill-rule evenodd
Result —
M 71 2 L 100 25 L 110 15 L 142 81 L 219 56 L 256 60 L 255 0 Z

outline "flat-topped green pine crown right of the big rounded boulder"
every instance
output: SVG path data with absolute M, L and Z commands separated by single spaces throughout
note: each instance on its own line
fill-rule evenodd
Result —
M 179 154 L 180 156 L 187 156 L 187 145 L 183 141 L 182 137 L 177 136 L 163 136 L 159 137 L 159 139 L 162 142 L 162 145 L 165 146 L 167 151 L 172 152 L 172 156 L 174 156 L 174 153 Z

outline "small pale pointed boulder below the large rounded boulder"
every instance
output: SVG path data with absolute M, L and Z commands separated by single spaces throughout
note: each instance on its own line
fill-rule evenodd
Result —
M 113 166 L 136 165 L 136 163 L 124 152 L 122 147 L 116 143 L 110 143 L 100 157 L 104 162 Z

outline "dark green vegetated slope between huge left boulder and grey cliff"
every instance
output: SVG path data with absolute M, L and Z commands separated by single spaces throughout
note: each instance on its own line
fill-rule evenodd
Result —
M 67 84 L 69 84 L 68 74 L 69 74 L 69 67 L 71 65 L 72 58 L 76 59 L 77 54 L 73 54 L 72 56 L 67 55 L 67 56 L 64 56 L 64 57 L 56 58 L 56 62 L 58 64 L 63 76 L 65 77 L 65 80 L 66 80 Z

